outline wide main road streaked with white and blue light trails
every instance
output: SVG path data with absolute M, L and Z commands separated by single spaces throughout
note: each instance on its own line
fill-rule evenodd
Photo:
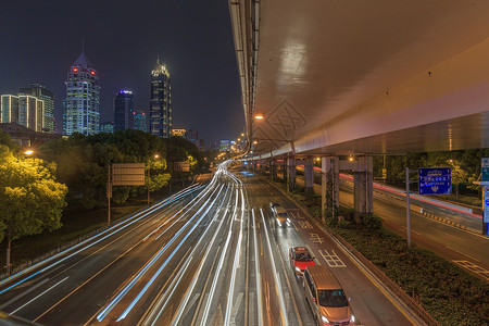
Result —
M 292 223 L 278 227 L 269 202 Z M 306 246 L 358 324 L 416 317 L 275 188 L 222 165 L 195 185 L 0 283 L 0 310 L 45 325 L 313 325 L 291 246 Z

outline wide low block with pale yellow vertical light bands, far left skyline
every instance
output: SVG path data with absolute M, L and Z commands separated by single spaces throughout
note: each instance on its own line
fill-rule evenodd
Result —
M 45 127 L 45 101 L 36 97 L 3 95 L 1 111 L 2 123 L 16 123 L 39 133 Z

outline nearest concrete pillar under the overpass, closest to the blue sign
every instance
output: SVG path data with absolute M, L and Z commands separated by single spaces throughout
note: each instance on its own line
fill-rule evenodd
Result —
M 360 223 L 361 214 L 374 212 L 374 174 L 372 156 L 360 156 L 358 168 L 353 172 L 353 201 L 355 210 L 355 222 Z

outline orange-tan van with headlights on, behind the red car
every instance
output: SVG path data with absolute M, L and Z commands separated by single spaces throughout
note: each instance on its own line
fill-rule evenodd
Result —
M 304 296 L 317 325 L 354 325 L 350 299 L 331 271 L 322 265 L 305 267 Z

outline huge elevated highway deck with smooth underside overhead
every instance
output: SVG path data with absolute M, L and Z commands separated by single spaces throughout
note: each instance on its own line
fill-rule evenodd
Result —
M 489 2 L 229 3 L 254 158 L 488 147 Z

